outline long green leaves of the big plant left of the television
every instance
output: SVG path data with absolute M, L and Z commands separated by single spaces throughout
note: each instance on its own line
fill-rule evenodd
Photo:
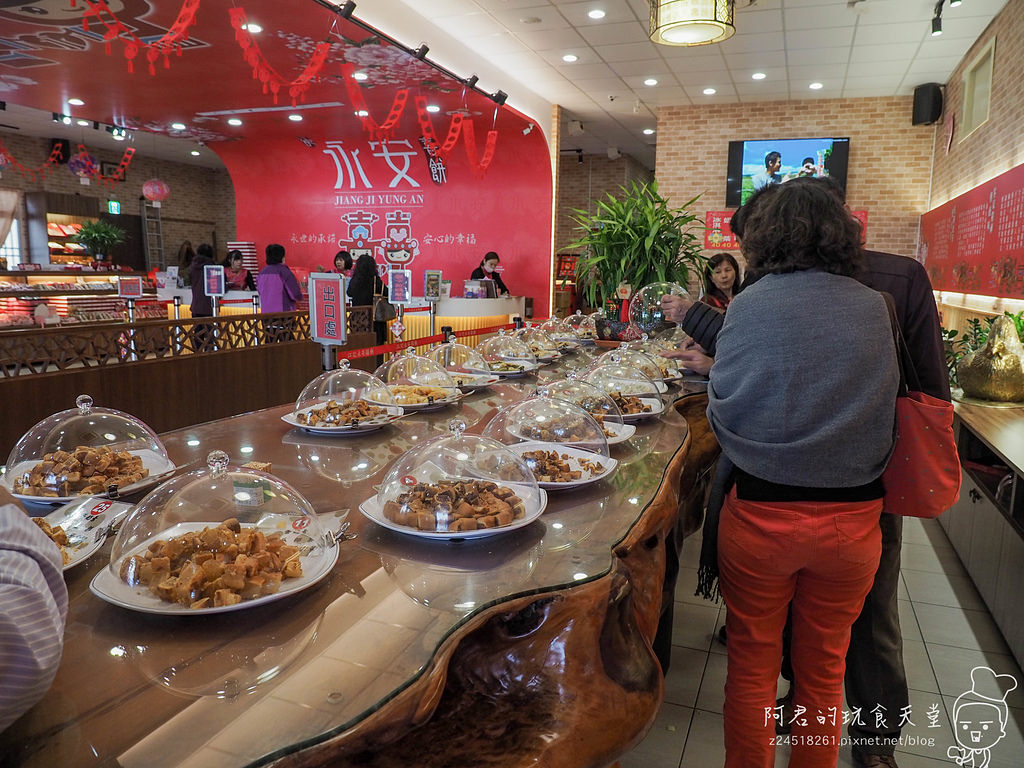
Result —
M 570 218 L 583 232 L 569 246 L 584 249 L 577 262 L 577 281 L 591 306 L 615 300 L 620 285 L 633 291 L 650 283 L 678 283 L 684 288 L 690 270 L 699 273 L 703 221 L 692 212 L 700 196 L 673 208 L 657 190 L 657 182 L 632 182 L 618 195 L 594 201 L 593 212 L 572 209 Z M 617 317 L 616 317 L 617 319 Z

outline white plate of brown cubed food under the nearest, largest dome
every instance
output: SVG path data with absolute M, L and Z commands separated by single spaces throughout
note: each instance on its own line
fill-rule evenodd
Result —
M 255 552 L 258 546 L 261 555 L 268 555 L 259 562 L 250 558 L 252 567 L 224 563 L 216 553 L 210 558 L 210 547 L 197 546 L 204 530 L 221 551 Z M 293 530 L 256 531 L 233 518 L 182 522 L 127 553 L 118 573 L 110 567 L 100 570 L 89 589 L 101 600 L 142 613 L 224 613 L 302 592 L 330 573 L 337 561 L 338 545 L 330 535 L 313 541 Z

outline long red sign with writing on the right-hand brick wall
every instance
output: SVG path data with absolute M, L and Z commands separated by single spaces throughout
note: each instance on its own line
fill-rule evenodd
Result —
M 937 291 L 1024 297 L 1024 165 L 924 214 L 918 260 Z

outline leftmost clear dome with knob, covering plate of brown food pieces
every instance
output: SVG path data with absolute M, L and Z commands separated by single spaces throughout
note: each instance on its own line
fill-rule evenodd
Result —
M 93 408 L 79 395 L 76 408 L 43 419 L 7 458 L 3 485 L 28 501 L 71 501 L 80 496 L 131 490 L 174 468 L 157 433 L 121 411 Z

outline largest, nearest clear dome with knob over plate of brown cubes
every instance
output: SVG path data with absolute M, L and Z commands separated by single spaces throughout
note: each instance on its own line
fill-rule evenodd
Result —
M 337 555 L 333 534 L 295 488 L 214 451 L 207 467 L 139 502 L 92 589 L 136 610 L 217 612 L 311 586 Z

